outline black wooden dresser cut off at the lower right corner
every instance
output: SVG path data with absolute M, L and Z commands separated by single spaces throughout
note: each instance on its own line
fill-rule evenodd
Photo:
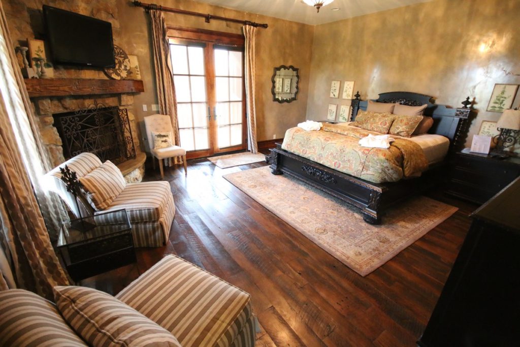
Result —
M 472 215 L 472 225 L 421 347 L 518 346 L 520 178 Z

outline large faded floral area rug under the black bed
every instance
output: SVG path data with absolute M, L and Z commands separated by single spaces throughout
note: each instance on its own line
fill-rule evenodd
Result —
M 381 225 L 319 189 L 269 166 L 223 176 L 361 276 L 366 276 L 445 221 L 456 207 L 419 196 L 398 204 Z

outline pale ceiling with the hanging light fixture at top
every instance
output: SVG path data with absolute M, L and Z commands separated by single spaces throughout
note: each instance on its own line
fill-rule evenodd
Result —
M 319 13 L 302 0 L 196 0 L 244 12 L 265 15 L 305 24 L 323 24 L 368 15 L 392 8 L 425 3 L 432 0 L 334 0 Z M 339 8 L 339 10 L 332 10 Z

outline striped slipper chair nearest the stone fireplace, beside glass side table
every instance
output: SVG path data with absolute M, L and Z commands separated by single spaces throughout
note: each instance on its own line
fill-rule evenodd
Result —
M 102 204 L 97 204 L 95 203 L 96 199 L 89 197 L 90 194 L 88 194 L 88 196 L 80 196 L 76 205 L 74 196 L 67 191 L 60 179 L 59 168 L 67 165 L 70 170 L 76 172 L 81 181 L 85 177 L 92 176 L 102 179 L 108 170 L 101 171 L 97 176 L 93 175 L 93 172 L 106 164 L 107 162 L 101 163 L 99 158 L 92 153 L 81 153 L 48 172 L 44 177 L 46 186 L 50 191 L 56 192 L 61 197 L 77 218 L 80 217 L 80 211 L 85 216 L 125 209 L 132 224 L 132 234 L 136 247 L 160 247 L 165 245 L 175 215 L 175 203 L 168 182 L 125 183 L 121 182 L 121 178 L 118 177 L 116 185 L 103 182 L 103 184 L 97 184 L 96 187 L 96 184 L 93 183 L 96 181 L 90 179 L 88 181 L 89 186 L 97 188 L 97 194 L 105 196 L 105 199 L 102 199 Z M 110 169 L 113 167 L 113 165 L 110 165 L 108 169 L 114 170 Z M 118 175 L 117 172 L 114 174 Z M 120 174 L 121 172 L 119 172 Z M 122 175 L 120 176 L 122 177 Z M 102 220 L 102 218 L 106 220 Z M 111 221 L 107 218 L 107 215 L 103 215 L 98 218 L 98 221 L 110 223 Z

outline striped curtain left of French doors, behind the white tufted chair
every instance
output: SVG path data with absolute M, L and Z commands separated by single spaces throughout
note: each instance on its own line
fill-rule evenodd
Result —
M 153 62 L 155 65 L 159 113 L 170 115 L 173 126 L 173 144 L 180 146 L 177 99 L 173 83 L 172 62 L 170 61 L 170 44 L 166 35 L 166 21 L 163 12 L 160 10 L 151 9 L 149 13 L 152 25 Z M 150 134 L 147 134 L 147 136 L 150 136 Z M 180 157 L 175 157 L 174 160 L 176 164 L 183 162 Z M 172 163 L 173 160 L 171 158 L 164 159 L 166 166 L 170 166 Z

